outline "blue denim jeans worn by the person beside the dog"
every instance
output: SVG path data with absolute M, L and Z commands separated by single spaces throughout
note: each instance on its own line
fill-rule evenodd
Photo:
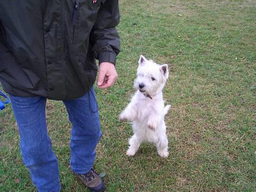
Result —
M 46 127 L 46 98 L 9 96 L 19 127 L 22 159 L 33 183 L 39 192 L 60 191 L 58 162 Z M 102 135 L 94 89 L 63 103 L 72 123 L 71 168 L 75 173 L 87 173 L 94 164 L 95 148 Z

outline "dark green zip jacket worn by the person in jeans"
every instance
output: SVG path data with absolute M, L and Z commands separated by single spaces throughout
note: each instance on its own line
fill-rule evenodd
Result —
M 16 96 L 70 100 L 94 84 L 95 59 L 120 50 L 118 0 L 1 0 L 0 81 Z

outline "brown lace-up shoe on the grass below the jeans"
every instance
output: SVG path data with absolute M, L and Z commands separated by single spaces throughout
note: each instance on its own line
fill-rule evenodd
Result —
M 85 184 L 85 186 L 94 192 L 102 192 L 105 190 L 105 184 L 103 180 L 98 176 L 93 168 L 88 173 L 77 174 L 79 179 Z

